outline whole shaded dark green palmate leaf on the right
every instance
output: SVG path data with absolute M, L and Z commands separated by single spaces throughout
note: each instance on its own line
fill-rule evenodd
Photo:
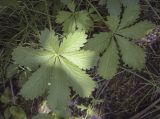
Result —
M 117 72 L 120 59 L 118 51 L 120 51 L 125 65 L 138 70 L 145 66 L 144 50 L 130 42 L 130 39 L 144 37 L 154 25 L 146 20 L 137 23 L 139 10 L 139 5 L 135 5 L 125 8 L 122 19 L 117 16 L 109 16 L 106 24 L 109 26 L 110 32 L 94 35 L 94 38 L 89 39 L 86 44 L 86 49 L 94 50 L 97 53 L 105 51 L 100 58 L 98 69 L 98 73 L 102 77 L 111 79 Z

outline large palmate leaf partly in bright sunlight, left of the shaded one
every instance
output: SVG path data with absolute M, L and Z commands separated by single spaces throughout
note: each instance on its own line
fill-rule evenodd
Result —
M 53 31 L 44 30 L 40 38 L 45 38 L 46 41 L 50 43 L 58 41 L 57 37 L 52 33 Z M 44 34 L 45 37 L 43 37 Z M 52 34 L 53 36 L 51 35 L 52 37 L 50 38 L 47 34 Z M 75 34 L 77 34 L 77 37 Z M 77 40 L 79 40 L 79 42 L 77 42 Z M 45 40 L 41 39 L 41 41 Z M 49 46 L 49 49 L 48 45 L 43 45 L 44 42 L 41 41 L 41 46 L 47 47 L 39 50 L 19 46 L 13 52 L 13 59 L 17 64 L 28 67 L 32 67 L 34 64 L 40 66 L 29 78 L 29 81 L 24 84 L 21 89 L 21 94 L 26 99 L 33 99 L 48 91 L 47 99 L 50 108 L 58 115 L 68 117 L 70 100 L 69 87 L 72 87 L 73 90 L 83 97 L 88 97 L 91 94 L 94 90 L 95 83 L 82 68 L 89 69 L 90 67 L 86 66 L 93 66 L 97 58 L 92 51 L 85 52 L 84 50 L 80 50 L 86 42 L 86 35 L 84 32 L 75 31 L 74 33 L 70 33 L 67 38 L 64 38 L 61 45 L 55 43 L 53 44 L 53 48 Z M 76 47 L 74 46 L 74 41 L 76 42 Z M 58 51 L 54 49 L 55 47 L 56 50 L 58 47 Z M 53 50 L 51 51 L 51 49 Z M 42 53 L 45 51 L 46 55 L 41 55 L 40 51 Z M 84 54 L 82 54 L 82 52 Z M 75 60 L 80 59 L 77 63 L 73 60 L 75 57 L 74 53 L 77 53 Z M 28 60 L 24 58 L 28 58 Z M 23 62 L 24 60 L 25 62 Z M 84 64 L 86 66 L 84 66 Z

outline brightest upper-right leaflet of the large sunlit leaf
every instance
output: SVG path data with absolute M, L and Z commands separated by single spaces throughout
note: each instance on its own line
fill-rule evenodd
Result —
M 59 52 L 65 53 L 80 50 L 80 48 L 84 46 L 84 43 L 87 42 L 86 38 L 87 35 L 84 31 L 76 31 L 68 34 L 61 43 Z

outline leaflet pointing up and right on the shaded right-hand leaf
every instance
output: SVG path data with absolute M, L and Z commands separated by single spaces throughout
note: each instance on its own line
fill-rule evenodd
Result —
M 133 24 L 139 17 L 140 14 L 140 5 L 132 5 L 125 8 L 124 13 L 122 15 L 121 23 L 119 29 L 127 27 Z

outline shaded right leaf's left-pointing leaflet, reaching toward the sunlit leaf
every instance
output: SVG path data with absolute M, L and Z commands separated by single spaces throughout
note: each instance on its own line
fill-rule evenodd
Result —
M 110 37 L 111 34 L 107 32 L 94 34 L 93 38 L 90 38 L 88 40 L 88 43 L 84 46 L 84 49 L 102 53 L 109 45 Z

